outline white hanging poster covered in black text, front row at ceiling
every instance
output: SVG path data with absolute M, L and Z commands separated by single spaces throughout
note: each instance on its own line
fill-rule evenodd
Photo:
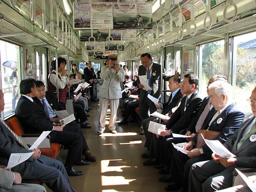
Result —
M 92 3 L 91 4 L 91 28 L 113 29 L 113 4 Z

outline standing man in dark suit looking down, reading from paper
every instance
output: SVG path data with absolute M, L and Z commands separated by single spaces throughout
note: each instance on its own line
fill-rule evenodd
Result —
M 138 78 L 137 84 L 140 88 L 139 95 L 139 106 L 140 106 L 140 117 L 142 119 L 148 118 L 148 109 L 150 113 L 154 113 L 157 108 L 156 105 L 147 98 L 147 95 L 159 99 L 161 95 L 161 65 L 154 63 L 152 57 L 149 53 L 143 53 L 140 56 L 142 66 L 139 67 L 138 75 L 146 75 L 148 85 L 152 90 L 143 90 L 144 86 L 140 83 L 140 79 Z M 163 79 L 168 80 L 169 75 L 166 74 L 165 69 L 163 68 Z

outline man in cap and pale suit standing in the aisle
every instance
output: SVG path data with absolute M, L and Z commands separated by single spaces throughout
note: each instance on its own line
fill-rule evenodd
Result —
M 116 132 L 116 113 L 119 105 L 119 98 L 122 98 L 120 82 L 124 81 L 123 69 L 117 63 L 117 55 L 109 55 L 109 65 L 101 68 L 100 78 L 103 84 L 99 90 L 99 125 L 98 134 L 105 130 L 106 110 L 110 102 L 110 120 L 109 130 L 111 133 Z

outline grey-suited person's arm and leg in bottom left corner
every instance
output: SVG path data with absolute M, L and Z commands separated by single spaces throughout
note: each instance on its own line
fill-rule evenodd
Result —
M 22 177 L 19 173 L 6 170 L 0 165 L 0 191 L 12 192 L 46 192 L 46 188 L 42 185 L 22 183 Z

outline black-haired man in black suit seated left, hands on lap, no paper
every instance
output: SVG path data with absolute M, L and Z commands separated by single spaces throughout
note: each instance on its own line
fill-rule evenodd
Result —
M 70 176 L 83 175 L 83 172 L 75 170 L 73 164 L 88 165 L 89 161 L 82 160 L 83 139 L 77 126 L 53 124 L 42 107 L 33 102 L 37 89 L 34 79 L 23 79 L 19 84 L 20 96 L 15 114 L 22 124 L 26 133 L 42 133 L 42 131 L 52 131 L 50 133 L 51 142 L 68 146 L 65 167 Z

